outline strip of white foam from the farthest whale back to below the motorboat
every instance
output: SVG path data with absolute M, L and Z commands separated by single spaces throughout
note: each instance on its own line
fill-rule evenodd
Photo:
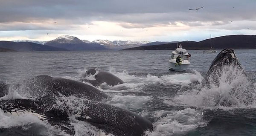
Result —
M 140 87 L 149 84 L 190 84 L 195 81 L 201 82 L 202 76 L 199 72 L 193 73 L 183 73 L 183 74 L 175 74 L 175 75 L 163 75 L 163 76 L 155 76 L 148 74 L 146 77 L 138 77 L 136 75 L 130 75 L 126 70 L 123 72 L 116 72 L 114 69 L 109 70 L 113 75 L 116 75 L 118 78 L 122 79 L 125 84 L 119 84 L 116 86 L 109 86 L 105 83 L 101 84 L 100 87 L 103 90 L 108 91 L 125 91 L 125 92 L 134 92 L 139 91 Z

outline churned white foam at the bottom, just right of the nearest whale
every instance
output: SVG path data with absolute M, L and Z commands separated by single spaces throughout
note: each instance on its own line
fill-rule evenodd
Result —
M 163 116 L 164 113 L 166 116 Z M 154 125 L 154 131 L 147 131 L 148 136 L 182 136 L 190 130 L 205 126 L 201 111 L 187 108 L 179 111 L 155 111 L 154 116 L 160 117 Z

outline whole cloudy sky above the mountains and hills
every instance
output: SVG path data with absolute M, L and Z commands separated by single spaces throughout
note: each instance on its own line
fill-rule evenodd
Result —
M 201 41 L 238 34 L 256 35 L 256 0 L 0 0 L 0 41 L 61 35 Z

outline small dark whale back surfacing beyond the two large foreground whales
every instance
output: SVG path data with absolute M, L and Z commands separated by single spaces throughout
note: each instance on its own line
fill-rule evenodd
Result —
M 96 70 L 95 69 L 88 69 L 86 74 L 87 75 L 94 75 L 96 73 Z M 117 76 L 111 74 L 110 72 L 105 72 L 105 71 L 101 71 L 99 73 L 97 73 L 95 75 L 95 80 L 87 80 L 87 79 L 84 79 L 82 81 L 87 81 L 91 84 L 93 84 L 93 86 L 99 86 L 100 84 L 102 83 L 106 83 L 108 85 L 111 85 L 111 86 L 115 86 L 117 84 L 123 84 L 124 81 L 122 81 L 122 79 L 118 78 Z

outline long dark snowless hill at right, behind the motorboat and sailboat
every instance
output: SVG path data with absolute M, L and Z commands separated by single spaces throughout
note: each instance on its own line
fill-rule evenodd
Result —
M 195 42 L 183 41 L 179 42 L 186 49 L 210 49 L 210 39 Z M 167 43 L 154 46 L 140 46 L 122 50 L 173 50 L 177 47 L 177 43 Z M 256 49 L 256 35 L 228 35 L 212 38 L 213 49 Z

